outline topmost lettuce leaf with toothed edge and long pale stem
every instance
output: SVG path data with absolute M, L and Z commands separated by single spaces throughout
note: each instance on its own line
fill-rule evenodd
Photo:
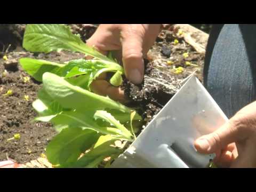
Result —
M 77 51 L 94 58 L 113 62 L 90 46 L 79 35 L 74 35 L 68 26 L 61 24 L 29 24 L 23 38 L 23 47 L 31 52 Z

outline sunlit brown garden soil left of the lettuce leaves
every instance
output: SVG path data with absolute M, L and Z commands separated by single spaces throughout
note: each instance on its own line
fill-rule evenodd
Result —
M 10 53 L 9 60 L 17 61 L 20 57 L 40 58 L 50 61 L 64 62 L 82 58 L 82 54 L 62 52 L 50 54 Z M 28 76 L 18 65 L 17 67 L 4 67 L 3 59 L 0 60 L 0 161 L 7 157 L 19 163 L 27 163 L 38 158 L 47 143 L 55 134 L 50 124 L 31 122 L 36 117 L 32 102 L 41 89 L 41 83 L 31 78 L 30 82 L 23 82 L 23 77 Z M 4 70 L 7 75 L 4 76 Z M 8 90 L 12 90 L 10 96 L 3 96 Z M 29 96 L 29 101 L 25 100 Z M 20 140 L 7 141 L 14 134 L 21 135 Z

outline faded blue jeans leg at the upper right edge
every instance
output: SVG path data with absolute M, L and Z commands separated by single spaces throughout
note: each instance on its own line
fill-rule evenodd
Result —
M 206 49 L 204 85 L 230 118 L 253 102 L 256 25 L 213 25 Z

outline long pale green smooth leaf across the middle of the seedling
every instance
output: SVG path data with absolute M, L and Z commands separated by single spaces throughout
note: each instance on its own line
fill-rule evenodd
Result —
M 52 99 L 58 101 L 63 108 L 79 110 L 110 108 L 126 113 L 131 111 L 129 107 L 119 102 L 71 85 L 65 79 L 51 73 L 43 75 L 43 89 Z

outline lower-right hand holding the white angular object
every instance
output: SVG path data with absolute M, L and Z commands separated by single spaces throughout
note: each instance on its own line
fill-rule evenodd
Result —
M 195 142 L 199 153 L 217 157 L 214 162 L 222 167 L 256 167 L 256 102 L 247 105 L 229 122 Z

